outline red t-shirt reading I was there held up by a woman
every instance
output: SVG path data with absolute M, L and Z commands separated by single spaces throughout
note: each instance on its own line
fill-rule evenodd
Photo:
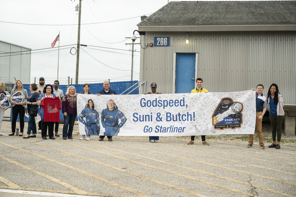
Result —
M 44 122 L 59 122 L 59 110 L 62 109 L 59 97 L 45 97 L 41 103 L 44 108 Z

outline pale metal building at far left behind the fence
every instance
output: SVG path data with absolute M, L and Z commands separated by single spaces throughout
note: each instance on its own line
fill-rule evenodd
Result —
M 31 48 L 0 40 L 0 81 L 14 83 L 30 79 Z

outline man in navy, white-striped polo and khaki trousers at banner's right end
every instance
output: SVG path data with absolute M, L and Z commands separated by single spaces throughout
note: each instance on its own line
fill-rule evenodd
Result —
M 263 143 L 263 133 L 262 133 L 262 118 L 266 112 L 266 109 L 268 108 L 267 105 L 267 99 L 265 96 L 263 96 L 263 85 L 258 84 L 257 85 L 257 92 L 256 92 L 256 128 L 257 128 L 257 135 L 259 139 L 259 145 L 261 149 L 264 149 L 264 143 Z M 255 89 L 252 89 L 255 91 Z M 249 134 L 249 144 L 247 145 L 248 148 L 251 148 L 253 146 L 253 139 L 254 135 Z

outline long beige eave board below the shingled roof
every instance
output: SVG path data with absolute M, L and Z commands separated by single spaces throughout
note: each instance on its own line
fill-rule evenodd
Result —
M 200 25 L 200 26 L 138 26 L 145 32 L 215 32 L 215 31 L 296 31 L 293 25 Z

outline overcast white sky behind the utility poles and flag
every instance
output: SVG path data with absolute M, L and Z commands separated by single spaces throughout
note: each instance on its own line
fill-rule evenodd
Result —
M 80 51 L 79 83 L 101 83 L 105 79 L 110 79 L 110 82 L 129 81 L 131 77 L 131 52 L 115 49 L 130 50 L 131 45 L 125 45 L 125 43 L 131 43 L 131 40 L 125 40 L 125 37 L 131 37 L 133 31 L 138 30 L 136 25 L 141 21 L 140 16 L 149 16 L 167 3 L 167 0 L 83 0 L 81 24 L 106 23 L 81 25 L 80 44 L 106 48 L 81 47 L 85 51 Z M 58 44 L 60 46 L 71 46 L 62 47 L 66 49 L 59 51 L 59 81 L 61 84 L 66 84 L 66 78 L 70 76 L 75 83 L 76 55 L 70 54 L 70 48 L 77 46 L 75 44 L 77 44 L 78 25 L 73 24 L 78 24 L 78 12 L 75 12 L 75 6 L 79 4 L 79 1 L 0 0 L 0 4 L 0 21 L 5 21 L 0 22 L 0 40 L 2 41 L 28 47 L 32 50 L 50 48 L 51 43 L 60 31 L 60 44 L 57 42 L 55 47 Z M 136 18 L 126 19 L 131 17 Z M 108 22 L 113 20 L 120 21 Z M 139 43 L 139 39 L 135 43 Z M 134 49 L 140 51 L 140 46 L 135 45 Z M 48 50 L 52 49 L 46 51 Z M 133 80 L 138 80 L 140 53 L 136 52 L 135 55 Z M 31 55 L 31 78 L 43 76 L 46 82 L 53 82 L 57 78 L 57 61 L 57 51 L 33 53 Z M 125 71 L 108 68 L 104 64 Z

